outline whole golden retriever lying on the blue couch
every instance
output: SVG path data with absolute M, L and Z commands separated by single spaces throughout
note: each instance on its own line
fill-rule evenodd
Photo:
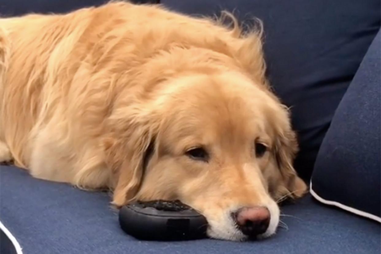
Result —
M 223 16 L 230 26 L 110 2 L 0 19 L 1 161 L 110 189 L 117 207 L 179 199 L 212 238 L 274 234 L 277 201 L 306 191 L 296 136 L 264 75 L 261 26 Z

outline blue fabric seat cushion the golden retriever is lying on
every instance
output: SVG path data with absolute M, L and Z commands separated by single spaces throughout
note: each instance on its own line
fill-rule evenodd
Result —
M 218 240 L 138 241 L 119 227 L 110 195 L 34 179 L 18 168 L 0 168 L 2 223 L 24 254 L 379 254 L 380 225 L 306 196 L 282 208 L 288 229 L 257 242 Z M 147 232 L 149 233 L 149 232 Z

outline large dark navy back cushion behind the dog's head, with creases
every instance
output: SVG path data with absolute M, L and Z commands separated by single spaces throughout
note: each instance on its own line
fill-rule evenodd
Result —
M 335 109 L 380 27 L 379 0 L 162 0 L 181 13 L 234 11 L 262 19 L 268 77 L 291 107 L 301 151 L 295 167 L 309 179 Z

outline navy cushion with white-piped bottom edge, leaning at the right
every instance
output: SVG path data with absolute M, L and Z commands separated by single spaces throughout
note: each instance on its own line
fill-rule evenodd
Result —
M 381 217 L 381 40 L 378 32 L 340 102 L 316 160 L 312 189 Z

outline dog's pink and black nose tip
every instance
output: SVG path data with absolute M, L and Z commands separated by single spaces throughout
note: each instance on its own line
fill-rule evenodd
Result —
M 270 223 L 270 211 L 266 207 L 243 207 L 232 214 L 243 234 L 257 236 L 266 232 Z

